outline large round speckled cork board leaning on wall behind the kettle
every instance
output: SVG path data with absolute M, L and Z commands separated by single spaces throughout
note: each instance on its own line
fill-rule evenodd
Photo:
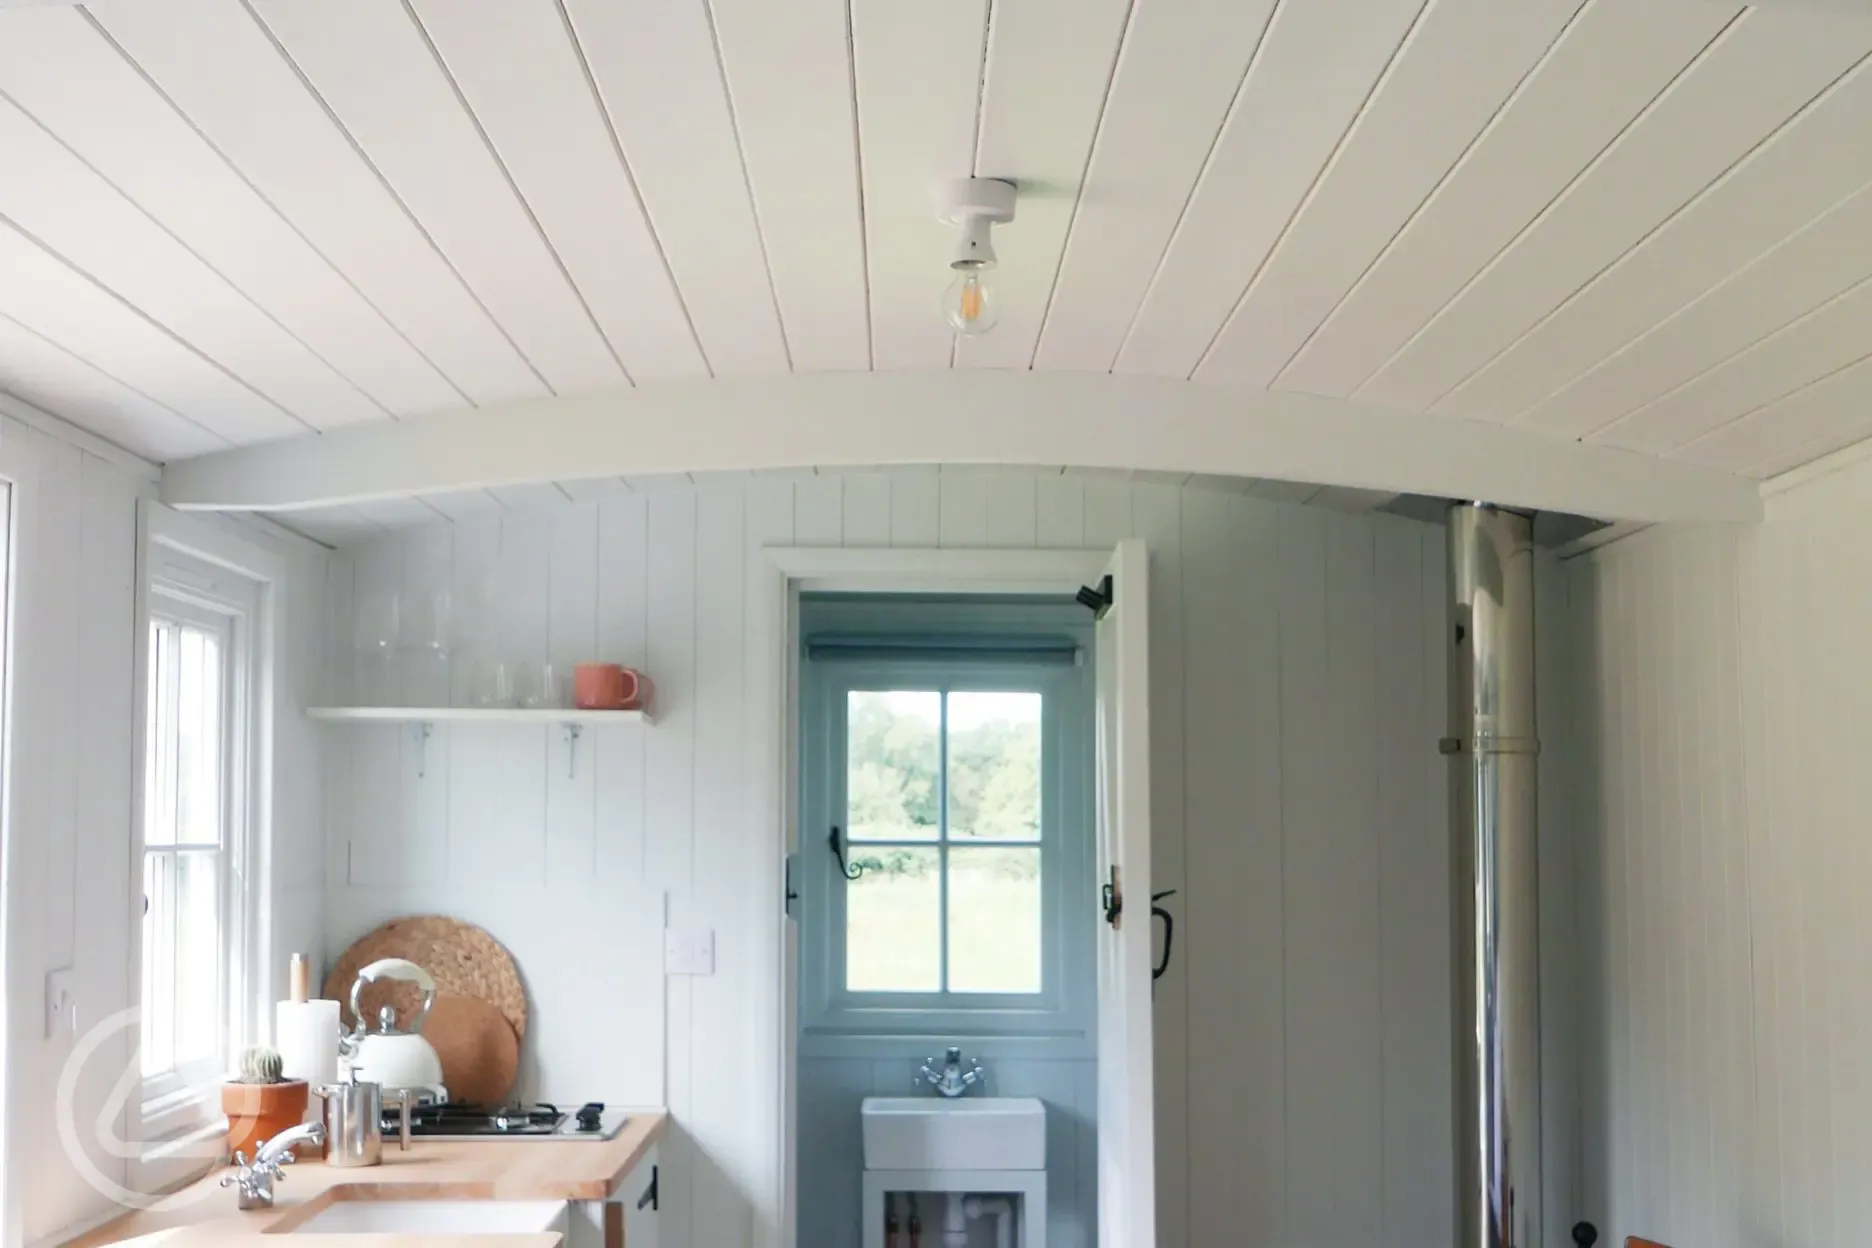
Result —
M 324 995 L 339 1003 L 339 1020 L 352 1027 L 350 988 L 358 971 L 378 958 L 406 958 L 429 971 L 436 980 L 436 999 L 475 997 L 496 1007 L 515 1037 L 526 1035 L 526 988 L 520 967 L 513 964 L 500 941 L 483 928 L 442 915 L 412 915 L 391 919 L 352 941 L 326 975 Z M 408 980 L 380 980 L 359 995 L 365 1020 L 376 1022 L 376 1010 L 391 1005 L 401 1025 L 416 1016 L 423 997 Z M 429 1031 L 425 1025 L 423 1031 Z

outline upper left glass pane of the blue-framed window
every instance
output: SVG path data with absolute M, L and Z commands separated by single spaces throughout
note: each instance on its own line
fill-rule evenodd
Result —
M 846 836 L 936 840 L 942 829 L 942 694 L 846 696 Z

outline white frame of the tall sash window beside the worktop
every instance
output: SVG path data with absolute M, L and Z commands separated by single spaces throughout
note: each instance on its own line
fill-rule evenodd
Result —
M 157 516 L 182 520 L 174 513 L 152 509 Z M 193 528 L 193 526 L 185 526 Z M 144 776 L 148 767 L 150 741 L 150 698 L 154 694 L 152 672 L 155 657 L 150 653 L 152 623 L 159 617 L 178 619 L 197 627 L 223 631 L 223 846 L 219 872 L 221 900 L 221 952 L 223 967 L 217 984 L 217 1027 L 225 1048 L 210 1061 L 193 1063 L 187 1068 L 163 1070 L 142 1076 L 137 1095 L 125 1111 L 131 1115 L 127 1138 L 140 1145 L 154 1147 L 161 1154 L 165 1147 L 191 1141 L 193 1138 L 219 1130 L 221 1106 L 219 1087 L 227 1080 L 234 1055 L 255 1040 L 260 1001 L 270 994 L 270 982 L 262 956 L 262 900 L 266 896 L 266 855 L 264 829 L 266 808 L 262 803 L 264 782 L 260 760 L 266 750 L 268 668 L 270 647 L 266 646 L 268 582 L 213 558 L 206 550 L 195 550 L 165 528 L 148 526 L 144 543 L 142 606 L 139 610 L 139 715 L 137 715 L 137 760 L 139 782 L 135 788 L 135 846 L 131 872 L 131 992 L 139 1010 L 144 1007 L 144 960 L 142 960 L 142 896 L 144 896 L 144 859 L 150 851 L 144 840 L 148 820 Z M 140 1033 L 137 1037 L 133 1061 L 140 1065 Z M 140 1076 L 140 1070 L 139 1070 Z M 161 1184 L 167 1168 L 148 1168 L 150 1183 Z

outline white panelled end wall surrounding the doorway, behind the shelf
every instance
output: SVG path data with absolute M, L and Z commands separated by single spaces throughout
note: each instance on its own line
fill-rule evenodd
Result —
M 762 844 L 777 795 L 745 707 L 779 653 L 751 634 L 749 595 L 771 576 L 760 548 L 1129 535 L 1153 558 L 1153 876 L 1181 889 L 1157 995 L 1163 1242 L 1445 1235 L 1443 535 L 1397 516 L 1118 475 L 827 472 L 672 483 L 339 552 L 339 677 L 358 595 L 446 576 L 459 595 L 505 588 L 464 616 L 459 655 L 498 638 L 513 657 L 638 664 L 657 722 L 588 730 L 575 778 L 550 728 L 438 726 L 423 780 L 404 732 L 326 730 L 328 952 L 395 913 L 487 924 L 535 1005 L 524 1089 L 666 1100 L 672 1242 L 769 1242 L 779 1128 L 751 1072 L 771 1046 L 779 949 L 749 915 L 779 887 Z M 715 932 L 713 977 L 663 980 L 666 919 Z M 1565 919 L 1556 906 L 1561 936 Z M 1567 1121 L 1554 1128 L 1571 1154 Z

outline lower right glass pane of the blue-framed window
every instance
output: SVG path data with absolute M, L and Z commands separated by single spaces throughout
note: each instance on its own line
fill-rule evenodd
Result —
M 949 851 L 949 992 L 1041 990 L 1041 851 Z

